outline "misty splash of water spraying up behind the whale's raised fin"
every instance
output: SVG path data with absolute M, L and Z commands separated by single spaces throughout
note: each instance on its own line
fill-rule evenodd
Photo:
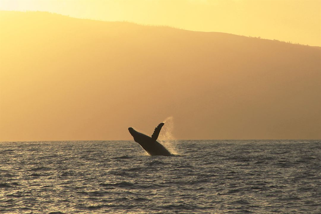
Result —
M 172 132 L 174 129 L 174 120 L 170 116 L 166 118 L 163 123 L 165 125 L 161 129 L 160 135 L 158 137 L 159 142 L 166 147 L 170 153 L 177 155 L 178 151 L 176 149 L 177 140 L 174 138 Z

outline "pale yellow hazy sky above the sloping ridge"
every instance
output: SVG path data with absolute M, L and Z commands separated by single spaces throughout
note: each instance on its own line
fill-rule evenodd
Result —
M 1 10 L 169 25 L 321 46 L 321 1 L 0 1 Z

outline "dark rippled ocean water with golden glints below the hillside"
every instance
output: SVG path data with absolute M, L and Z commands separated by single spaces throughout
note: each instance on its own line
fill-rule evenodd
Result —
M 0 213 L 321 213 L 320 140 L 0 143 Z

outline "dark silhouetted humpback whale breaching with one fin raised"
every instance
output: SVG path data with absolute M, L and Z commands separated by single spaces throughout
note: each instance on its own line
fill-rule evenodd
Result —
M 177 156 L 171 154 L 163 145 L 157 142 L 157 138 L 160 134 L 160 129 L 163 127 L 164 123 L 160 123 L 154 130 L 152 137 L 144 135 L 133 129 L 132 127 L 128 128 L 129 133 L 134 137 L 134 141 L 137 142 L 145 151 L 151 155 L 162 155 L 162 156 Z

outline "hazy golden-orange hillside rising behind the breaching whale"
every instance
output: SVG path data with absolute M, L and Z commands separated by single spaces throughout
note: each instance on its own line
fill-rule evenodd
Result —
M 321 50 L 218 32 L 0 12 L 0 140 L 321 138 Z

